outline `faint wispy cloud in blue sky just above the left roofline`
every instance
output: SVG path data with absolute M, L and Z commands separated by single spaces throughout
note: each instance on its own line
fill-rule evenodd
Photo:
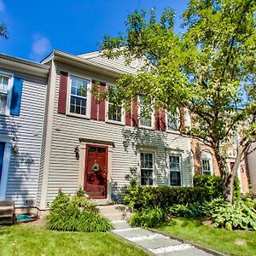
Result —
M 41 35 L 36 35 L 32 43 L 30 58 L 32 61 L 41 61 L 45 55 L 49 54 L 50 49 L 49 39 Z

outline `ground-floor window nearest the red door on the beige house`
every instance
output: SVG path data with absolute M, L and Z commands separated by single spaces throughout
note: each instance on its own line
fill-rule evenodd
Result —
M 153 185 L 154 160 L 152 153 L 141 153 L 141 185 Z

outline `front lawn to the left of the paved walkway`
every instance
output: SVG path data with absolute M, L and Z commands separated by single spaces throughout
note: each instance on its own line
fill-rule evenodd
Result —
M 45 230 L 29 224 L 0 227 L 0 255 L 147 255 L 110 233 Z

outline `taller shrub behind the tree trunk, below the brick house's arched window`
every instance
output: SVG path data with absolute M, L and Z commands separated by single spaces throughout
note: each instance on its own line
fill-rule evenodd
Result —
M 215 198 L 223 197 L 221 177 L 208 175 L 195 175 L 193 177 L 194 187 L 206 189 L 206 200 L 212 201 Z M 237 199 L 240 196 L 239 179 L 235 178 L 233 186 L 233 195 Z

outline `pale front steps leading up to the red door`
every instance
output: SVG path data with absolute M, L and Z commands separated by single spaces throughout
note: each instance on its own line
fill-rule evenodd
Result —
M 98 206 L 96 208 L 104 218 L 111 221 L 128 220 L 132 215 L 131 207 L 125 205 Z

